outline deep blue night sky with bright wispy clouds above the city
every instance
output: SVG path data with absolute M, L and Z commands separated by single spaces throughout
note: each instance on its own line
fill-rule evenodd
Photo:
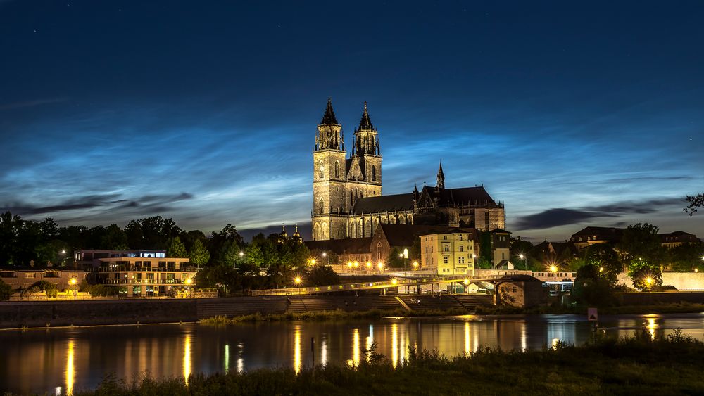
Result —
M 703 21 L 703 1 L 0 0 L 0 210 L 309 229 L 330 96 L 348 147 L 369 103 L 385 194 L 442 160 L 515 236 L 702 237 L 682 208 L 704 189 Z

